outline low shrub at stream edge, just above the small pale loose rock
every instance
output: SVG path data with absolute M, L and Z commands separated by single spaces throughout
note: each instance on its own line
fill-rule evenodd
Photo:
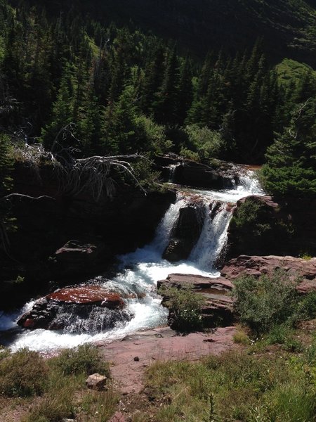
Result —
M 90 375 L 98 372 L 110 376 L 108 364 L 102 361 L 98 349 L 89 344 L 77 349 L 62 350 L 50 363 L 63 375 Z

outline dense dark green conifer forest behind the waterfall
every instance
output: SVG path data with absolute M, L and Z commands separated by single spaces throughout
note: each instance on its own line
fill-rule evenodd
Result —
M 1 0 L 0 22 L 2 173 L 12 141 L 40 142 L 77 158 L 266 160 L 268 191 L 315 194 L 315 72 L 275 66 L 264 39 L 197 60 L 176 41 L 105 26 L 81 8 L 51 15 Z

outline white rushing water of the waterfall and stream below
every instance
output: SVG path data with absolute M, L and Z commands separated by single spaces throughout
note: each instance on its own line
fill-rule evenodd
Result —
M 70 324 L 63 331 L 49 331 L 37 329 L 34 331 L 17 331 L 8 341 L 12 350 L 20 347 L 29 347 L 31 350 L 49 351 L 60 347 L 74 347 L 76 345 L 97 340 L 112 340 L 122 338 L 142 328 L 152 328 L 166 322 L 166 309 L 160 305 L 161 298 L 157 295 L 157 281 L 165 279 L 168 274 L 201 274 L 205 276 L 218 276 L 213 268 L 213 263 L 227 240 L 227 230 L 232 214 L 232 203 L 251 194 L 263 195 L 258 181 L 252 172 L 244 174 L 239 185 L 234 189 L 223 191 L 189 190 L 179 191 L 175 204 L 169 207 L 162 222 L 157 228 L 157 234 L 149 245 L 139 248 L 135 252 L 119 257 L 119 271 L 112 280 L 98 276 L 93 283 L 98 283 L 110 291 L 122 293 L 124 296 L 138 295 L 140 299 L 127 299 L 126 306 L 133 313 L 133 318 L 127 323 L 119 323 L 115 328 L 98 332 L 91 329 L 86 333 L 73 333 Z M 193 248 L 186 261 L 170 262 L 162 259 L 162 252 L 169 242 L 169 235 L 173 224 L 176 222 L 180 208 L 190 203 L 194 196 L 203 200 L 206 207 L 206 217 L 199 241 Z M 209 217 L 209 204 L 214 200 L 221 201 L 218 211 L 211 220 Z M 15 321 L 18 316 L 31 309 L 34 301 L 29 302 L 23 309 L 14 314 L 0 316 L 0 331 L 17 328 Z M 100 310 L 102 312 L 102 309 Z M 62 312 L 60 317 L 67 318 Z M 98 318 L 99 316 L 94 315 Z M 100 315 L 102 318 L 102 315 Z M 78 324 L 78 321 L 77 321 Z M 79 324 L 82 324 L 79 321 Z

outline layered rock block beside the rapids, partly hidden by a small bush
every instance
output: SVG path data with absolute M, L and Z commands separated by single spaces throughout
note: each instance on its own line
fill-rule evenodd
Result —
M 157 288 L 162 289 L 162 304 L 168 300 L 164 295 L 164 288 L 192 288 L 192 294 L 202 295 L 202 325 L 204 327 L 228 326 L 232 323 L 232 298 L 229 292 L 232 283 L 224 278 L 211 278 L 192 274 L 169 274 L 166 280 L 160 280 Z M 173 321 L 173 314 L 169 312 L 169 325 Z

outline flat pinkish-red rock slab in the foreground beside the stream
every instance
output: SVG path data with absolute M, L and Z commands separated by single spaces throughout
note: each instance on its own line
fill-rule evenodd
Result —
M 197 361 L 208 354 L 220 354 L 232 347 L 235 327 L 217 328 L 212 333 L 177 335 L 169 327 L 129 335 L 123 340 L 97 345 L 108 362 L 114 381 L 123 393 L 140 392 L 144 371 L 153 362 L 168 360 Z M 138 359 L 134 359 L 138 357 Z

